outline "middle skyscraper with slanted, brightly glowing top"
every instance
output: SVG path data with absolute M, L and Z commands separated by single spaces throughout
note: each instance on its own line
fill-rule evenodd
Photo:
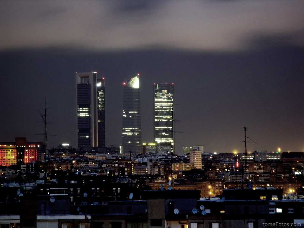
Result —
M 132 151 L 133 155 L 137 155 L 142 150 L 138 75 L 123 83 L 122 145 L 124 154 Z

